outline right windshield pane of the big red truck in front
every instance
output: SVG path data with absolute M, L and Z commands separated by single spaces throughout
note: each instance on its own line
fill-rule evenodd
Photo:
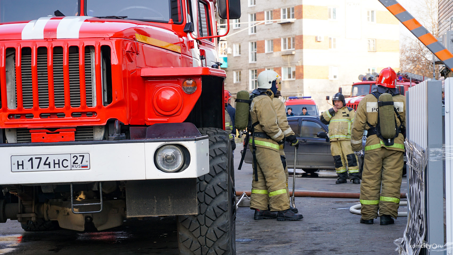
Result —
M 87 0 L 87 15 L 121 16 L 130 20 L 181 23 L 180 0 Z

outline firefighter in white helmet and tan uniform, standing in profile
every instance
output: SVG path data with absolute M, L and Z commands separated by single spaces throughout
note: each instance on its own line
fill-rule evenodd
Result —
M 277 218 L 277 221 L 297 221 L 304 216 L 289 209 L 286 177 L 279 153 L 285 136 L 278 125 L 272 104 L 272 98 L 277 92 L 278 78 L 279 75 L 274 71 L 261 72 L 258 75 L 258 88 L 252 92 L 252 137 L 249 140 L 249 148 L 253 154 L 254 174 L 250 208 L 255 210 L 255 220 Z

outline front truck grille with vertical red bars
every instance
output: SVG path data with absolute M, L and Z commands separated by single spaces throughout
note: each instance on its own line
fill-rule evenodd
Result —
M 80 56 L 80 51 L 82 51 L 82 56 Z M 49 52 L 52 52 L 52 61 L 49 58 Z M 16 54 L 15 48 L 6 50 L 8 108 L 18 108 L 18 101 L 20 101 L 18 100 L 18 96 L 20 96 L 18 89 L 22 92 L 24 109 L 31 109 L 34 105 L 38 105 L 39 108 L 48 108 L 49 102 L 52 101 L 55 108 L 64 108 L 66 103 L 69 103 L 71 108 L 78 108 L 81 105 L 96 106 L 94 46 L 85 46 L 82 49 L 79 49 L 78 46 L 70 46 L 67 50 L 56 46 L 51 51 L 47 47 L 23 47 L 20 49 L 19 68 L 15 67 Z M 83 63 L 79 63 L 79 59 L 82 59 Z M 81 66 L 84 74 L 80 72 Z M 16 81 L 15 73 L 19 71 L 21 83 Z M 53 79 L 50 79 L 49 76 Z M 82 83 L 83 87 L 82 81 L 85 83 L 85 102 L 82 102 L 80 84 Z M 49 94 L 49 88 L 52 88 L 49 83 L 53 83 L 53 93 L 51 93 L 53 98 Z M 68 91 L 65 92 L 65 89 Z M 38 102 L 34 102 L 35 100 Z

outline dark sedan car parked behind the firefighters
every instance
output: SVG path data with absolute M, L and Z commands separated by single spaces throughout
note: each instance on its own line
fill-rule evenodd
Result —
M 321 123 L 319 116 L 288 117 L 291 129 L 296 133 L 301 142 L 297 150 L 296 168 L 305 172 L 316 172 L 318 169 L 335 169 L 333 157 L 330 152 L 330 142 L 327 136 L 328 126 Z M 365 139 L 363 140 L 365 147 Z M 294 147 L 285 142 L 284 153 L 288 168 L 294 165 Z M 246 153 L 246 163 L 252 163 L 252 153 Z

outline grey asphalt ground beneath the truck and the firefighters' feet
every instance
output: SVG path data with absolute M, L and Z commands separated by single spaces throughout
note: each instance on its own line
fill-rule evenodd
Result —
M 236 148 L 235 168 L 239 164 L 241 145 Z M 296 170 L 296 176 L 299 171 Z M 296 178 L 296 190 L 360 192 L 360 185 L 348 182 L 335 184 L 331 171 L 321 177 Z M 327 176 L 327 177 L 326 177 Z M 250 191 L 252 168 L 244 164 L 235 171 L 236 191 Z M 289 188 L 292 188 L 291 178 Z M 403 177 L 401 192 L 407 187 Z M 360 216 L 349 212 L 358 199 L 296 197 L 296 207 L 304 215 L 302 221 L 253 220 L 253 211 L 239 207 L 236 218 L 238 255 L 324 255 L 324 254 L 397 254 L 393 240 L 400 238 L 406 217 L 394 225 L 360 224 Z M 405 211 L 401 206 L 400 211 Z M 25 232 L 17 221 L 0 224 L 0 255 L 177 255 L 176 218 L 145 217 L 128 219 L 110 230 L 78 232 L 54 230 Z

